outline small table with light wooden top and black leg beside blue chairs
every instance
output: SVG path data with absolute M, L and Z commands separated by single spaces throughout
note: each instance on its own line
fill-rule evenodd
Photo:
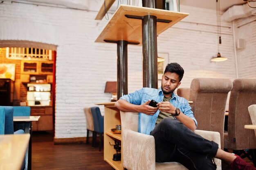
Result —
M 13 124 L 24 123 L 25 124 L 25 133 L 30 134 L 29 138 L 29 153 L 27 161 L 27 169 L 31 170 L 31 149 L 32 149 L 32 123 L 31 121 L 38 121 L 40 116 L 13 116 Z

